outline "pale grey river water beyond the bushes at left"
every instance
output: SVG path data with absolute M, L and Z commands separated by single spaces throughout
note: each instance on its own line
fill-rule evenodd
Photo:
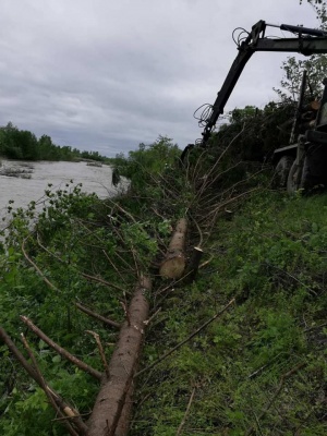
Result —
M 31 201 L 41 201 L 45 190 L 64 189 L 73 180 L 74 185 L 82 183 L 82 191 L 95 192 L 98 197 L 113 196 L 117 190 L 111 184 L 111 168 L 89 166 L 86 162 L 27 162 L 22 160 L 1 159 L 0 168 L 0 217 L 7 216 L 9 201 L 13 208 L 25 207 Z M 21 177 L 1 175 L 16 172 Z M 1 225 L 0 225 L 1 228 Z

